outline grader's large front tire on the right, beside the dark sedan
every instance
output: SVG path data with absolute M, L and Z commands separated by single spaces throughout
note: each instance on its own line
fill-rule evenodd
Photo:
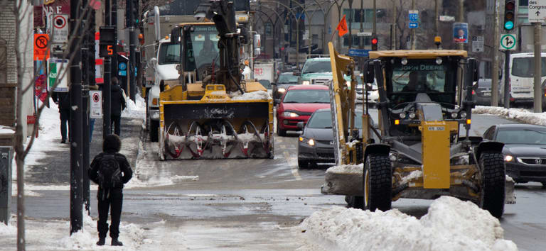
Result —
M 501 152 L 483 152 L 480 156 L 480 207 L 501 218 L 504 212 L 505 167 Z

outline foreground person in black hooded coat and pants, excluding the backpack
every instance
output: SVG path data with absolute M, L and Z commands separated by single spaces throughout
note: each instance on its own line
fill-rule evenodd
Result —
M 99 220 L 97 221 L 97 230 L 99 232 L 99 241 L 97 245 L 105 245 L 106 234 L 108 233 L 108 211 L 110 211 L 110 237 L 112 238 L 112 246 L 122 246 L 119 242 L 119 221 L 122 216 L 123 203 L 123 184 L 129 182 L 133 176 L 133 170 L 127 162 L 127 158 L 119 153 L 122 147 L 122 141 L 114 134 L 107 135 L 102 142 L 102 152 L 95 156 L 91 162 L 89 169 L 89 179 L 96 184 L 99 184 L 97 191 Z M 105 155 L 114 155 L 115 160 L 119 164 L 119 170 L 122 172 L 122 183 L 119 186 L 105 189 L 100 186 L 99 171 L 100 163 Z

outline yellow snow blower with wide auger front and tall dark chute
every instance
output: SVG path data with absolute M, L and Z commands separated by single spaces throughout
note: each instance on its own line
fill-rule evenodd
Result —
M 181 23 L 171 31 L 180 50 L 164 52 L 180 60 L 181 77 L 160 87 L 161 159 L 272 158 L 273 100 L 241 74 L 252 33 L 232 1 L 200 1 L 195 13 L 214 23 Z

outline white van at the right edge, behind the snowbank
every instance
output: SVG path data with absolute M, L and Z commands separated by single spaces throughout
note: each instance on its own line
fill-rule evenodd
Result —
M 542 73 L 540 83 L 546 80 L 546 53 L 542 53 Z M 533 75 L 535 72 L 534 53 L 514 53 L 510 55 L 508 82 L 510 83 L 510 103 L 530 103 L 534 100 Z M 504 81 L 501 82 L 501 93 L 504 94 Z M 544 89 L 544 87 L 542 87 Z M 542 94 L 544 92 L 542 91 Z M 501 95 L 503 99 L 503 95 Z M 544 99 L 544 98 L 543 98 Z M 502 103 L 502 102 L 501 102 Z

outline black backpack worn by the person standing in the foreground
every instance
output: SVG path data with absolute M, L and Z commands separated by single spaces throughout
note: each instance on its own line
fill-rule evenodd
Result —
M 119 169 L 119 162 L 116 160 L 116 155 L 102 155 L 97 174 L 99 186 L 103 189 L 122 187 L 122 170 Z

